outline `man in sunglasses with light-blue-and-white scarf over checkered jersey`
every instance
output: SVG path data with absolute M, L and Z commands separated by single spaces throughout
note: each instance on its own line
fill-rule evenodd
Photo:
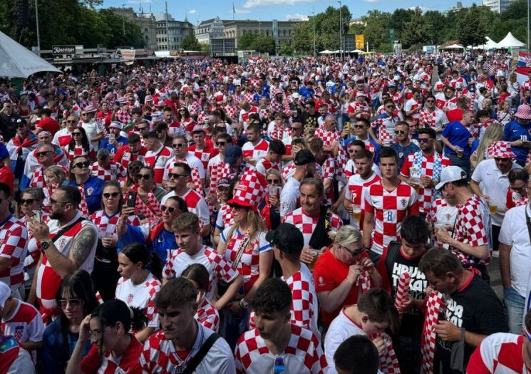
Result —
M 433 187 L 440 180 L 443 167 L 452 165 L 448 157 L 435 152 L 436 133 L 433 128 L 418 130 L 418 144 L 421 150 L 408 155 L 404 162 L 400 179 L 413 186 L 418 194 L 421 217 L 425 218 L 434 200 Z

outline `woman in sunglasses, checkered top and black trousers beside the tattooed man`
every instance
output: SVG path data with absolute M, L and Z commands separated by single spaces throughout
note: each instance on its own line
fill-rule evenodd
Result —
M 98 227 L 98 246 L 96 247 L 92 279 L 94 290 L 99 291 L 103 301 L 107 301 L 114 298 L 116 282 L 119 278 L 115 270 L 118 268 L 116 225 L 120 219 L 120 208 L 123 206 L 120 184 L 116 181 L 105 183 L 102 196 L 102 209 L 91 215 L 91 221 Z M 140 219 L 136 216 L 130 216 L 128 223 L 133 226 L 140 226 Z

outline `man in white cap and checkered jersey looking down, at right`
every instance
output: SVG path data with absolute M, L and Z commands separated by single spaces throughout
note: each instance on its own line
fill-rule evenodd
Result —
M 481 277 L 490 281 L 486 265 L 490 262 L 492 238 L 487 204 L 470 192 L 466 172 L 458 166 L 445 167 L 435 189 L 440 189 L 458 204 L 455 224 L 440 227 L 435 232 L 437 241 L 448 244 L 465 268 L 478 269 Z

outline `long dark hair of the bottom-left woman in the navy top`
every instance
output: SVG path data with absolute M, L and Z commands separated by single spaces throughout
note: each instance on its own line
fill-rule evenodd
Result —
M 94 294 L 94 287 L 92 283 L 91 274 L 87 271 L 78 269 L 71 274 L 66 275 L 61 281 L 61 286 L 56 292 L 56 300 L 61 300 L 63 295 L 68 298 L 81 298 L 83 301 L 83 316 L 91 313 L 96 306 L 98 300 Z M 63 353 L 68 356 L 70 347 L 68 346 L 68 319 L 63 313 L 63 309 L 59 308 L 59 323 L 61 324 L 61 335 L 63 336 Z

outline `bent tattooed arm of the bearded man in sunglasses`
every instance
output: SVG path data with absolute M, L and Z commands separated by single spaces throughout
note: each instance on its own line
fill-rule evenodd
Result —
M 78 269 L 81 264 L 91 254 L 91 249 L 98 240 L 98 234 L 93 227 L 83 227 L 83 229 L 73 238 L 72 248 L 68 257 L 63 256 L 53 243 L 46 249 L 48 262 L 54 271 L 64 278 L 74 270 Z

